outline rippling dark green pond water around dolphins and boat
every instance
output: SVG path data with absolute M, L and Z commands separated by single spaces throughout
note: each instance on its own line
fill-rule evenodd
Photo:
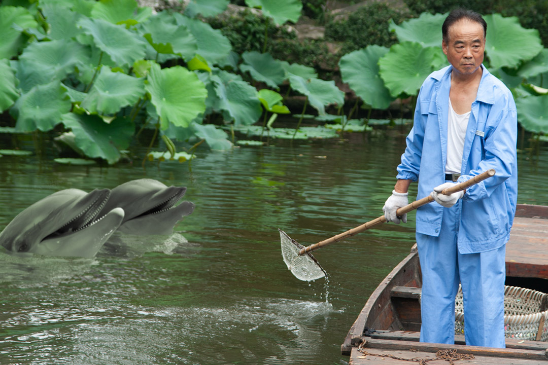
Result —
M 382 214 L 403 131 L 203 152 L 141 169 L 0 159 L 0 227 L 65 188 L 134 178 L 186 186 L 171 236 L 118 235 L 93 259 L 0 252 L 0 364 L 346 364 L 340 344 L 414 243 L 385 224 L 315 253 L 329 279 L 296 280 L 277 228 L 310 245 Z M 520 202 L 548 204 L 546 162 L 520 155 Z

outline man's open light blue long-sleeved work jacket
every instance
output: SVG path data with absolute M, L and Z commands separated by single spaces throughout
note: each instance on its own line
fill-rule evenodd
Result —
M 458 182 L 483 171 L 496 175 L 466 189 L 460 210 L 460 253 L 503 246 L 510 237 L 517 201 L 517 114 L 508 88 L 482 65 L 483 74 L 466 130 Z M 413 129 L 397 167 L 398 179 L 419 181 L 418 198 L 445 182 L 447 117 L 452 66 L 433 72 L 421 86 Z M 424 158 L 423 158 L 424 156 Z M 432 202 L 418 208 L 416 232 L 438 236 L 444 207 Z

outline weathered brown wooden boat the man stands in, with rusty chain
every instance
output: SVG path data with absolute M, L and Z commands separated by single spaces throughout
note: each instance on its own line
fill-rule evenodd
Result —
M 548 206 L 518 205 L 506 245 L 506 285 L 548 293 Z M 464 335 L 455 335 L 454 345 L 419 342 L 420 287 L 415 245 L 371 294 L 350 328 L 341 346 L 350 365 L 404 365 L 409 359 L 432 365 L 453 363 L 443 361 L 446 356 L 455 357 L 457 365 L 548 364 L 545 341 L 507 338 L 506 349 L 467 346 Z M 540 327 L 546 331 L 548 322 Z

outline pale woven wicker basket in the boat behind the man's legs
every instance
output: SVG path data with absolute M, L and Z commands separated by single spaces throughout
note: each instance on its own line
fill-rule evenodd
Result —
M 548 341 L 548 294 L 516 286 L 504 287 L 506 338 Z M 455 334 L 464 333 L 463 292 L 455 299 Z

